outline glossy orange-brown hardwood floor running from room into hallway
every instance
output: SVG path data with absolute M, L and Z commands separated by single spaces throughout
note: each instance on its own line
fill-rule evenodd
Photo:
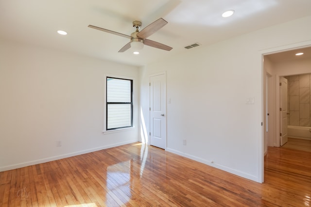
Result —
M 0 207 L 311 206 L 311 152 L 269 147 L 265 182 L 140 143 L 0 172 Z

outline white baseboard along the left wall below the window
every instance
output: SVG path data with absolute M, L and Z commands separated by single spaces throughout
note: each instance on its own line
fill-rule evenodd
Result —
M 32 161 L 28 161 L 28 162 L 22 162 L 22 163 L 18 163 L 18 164 L 14 164 L 14 165 L 7 165 L 7 166 L 0 167 L 0 172 L 7 171 L 7 170 L 13 170 L 13 169 L 21 168 L 21 167 L 27 167 L 27 166 L 35 165 L 35 164 L 41 164 L 44 162 L 54 161 L 57 159 L 69 158 L 69 157 L 73 157 L 73 156 L 77 156 L 77 155 L 82 155 L 82 154 L 86 154 L 86 153 L 90 153 L 90 152 L 95 152 L 95 151 L 99 151 L 99 150 L 103 150 L 103 149 L 108 149 L 108 148 L 112 148 L 112 147 L 116 147 L 116 146 L 121 146 L 124 144 L 136 143 L 136 142 L 138 142 L 138 140 L 131 140 L 131 141 L 126 141 L 126 142 L 121 142 L 121 143 L 114 143 L 114 144 L 110 144 L 110 145 L 86 149 L 86 150 L 82 150 L 82 151 L 78 151 L 78 152 L 72 152 L 72 153 L 63 154 L 63 155 L 59 155 L 59 156 L 53 156 L 53 157 L 44 158 L 44 159 L 36 159 L 36 160 L 32 160 Z

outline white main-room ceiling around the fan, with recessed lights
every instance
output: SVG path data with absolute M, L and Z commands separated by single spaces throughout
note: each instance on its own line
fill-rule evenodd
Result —
M 229 9 L 235 14 L 223 18 Z M 0 0 L 0 37 L 144 65 L 186 52 L 184 47 L 196 42 L 207 46 L 304 16 L 311 16 L 311 0 Z M 129 39 L 87 27 L 130 35 L 134 20 L 142 21 L 143 29 L 160 17 L 169 23 L 148 39 L 171 51 L 145 46 L 139 55 L 118 53 Z

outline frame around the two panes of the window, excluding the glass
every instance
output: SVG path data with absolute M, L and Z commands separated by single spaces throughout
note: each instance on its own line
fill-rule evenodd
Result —
M 126 128 L 132 128 L 133 127 L 133 116 L 134 116 L 134 113 L 133 113 L 133 106 L 134 106 L 134 92 L 133 92 L 133 83 L 134 83 L 134 79 L 131 79 L 131 78 L 124 78 L 124 77 L 119 77 L 119 76 L 113 76 L 113 75 L 106 75 L 105 76 L 106 78 L 106 84 L 105 84 L 105 131 L 108 132 L 108 131 L 114 131 L 114 130 L 120 130 L 120 129 L 126 129 Z M 131 101 L 130 102 L 108 102 L 107 101 L 107 84 L 108 84 L 108 79 L 118 79 L 118 80 L 129 80 L 130 83 L 131 83 Z M 109 104 L 129 104 L 130 105 L 130 110 L 131 110 L 131 117 L 130 117 L 130 122 L 131 122 L 131 125 L 130 126 L 126 126 L 126 127 L 115 127 L 115 128 L 108 128 L 108 105 Z

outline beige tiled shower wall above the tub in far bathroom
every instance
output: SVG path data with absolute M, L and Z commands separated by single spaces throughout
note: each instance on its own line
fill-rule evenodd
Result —
M 287 76 L 288 125 L 311 127 L 311 74 Z

